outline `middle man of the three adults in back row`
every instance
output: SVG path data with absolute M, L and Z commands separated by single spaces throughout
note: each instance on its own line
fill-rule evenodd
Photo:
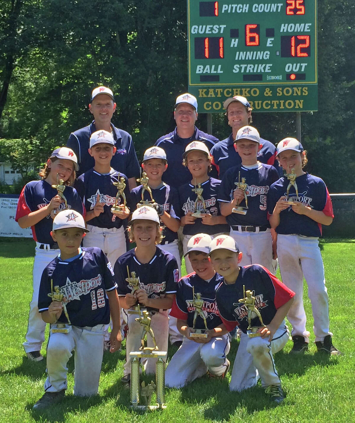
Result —
M 155 146 L 161 147 L 168 160 L 168 168 L 162 176 L 162 180 L 171 187 L 178 188 L 188 184 L 191 174 L 182 165 L 182 154 L 192 141 L 198 140 L 206 144 L 209 150 L 218 143 L 218 138 L 200 131 L 195 122 L 198 117 L 197 99 L 192 94 L 184 93 L 176 98 L 174 119 L 176 128 L 173 132 L 160 137 Z M 209 176 L 217 178 L 217 170 L 214 168 Z

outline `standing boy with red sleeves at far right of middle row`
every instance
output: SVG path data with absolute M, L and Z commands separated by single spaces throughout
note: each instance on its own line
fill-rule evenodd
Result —
M 277 254 L 283 283 L 295 292 L 287 318 L 292 324 L 292 353 L 308 349 L 309 335 L 303 307 L 303 276 L 308 285 L 314 318 L 317 350 L 330 355 L 341 352 L 333 346 L 329 331 L 328 294 L 324 266 L 318 246 L 322 225 L 333 222 L 333 206 L 322 179 L 303 170 L 306 151 L 295 138 L 278 143 L 277 158 L 286 171 L 270 187 L 268 209 L 270 224 L 276 229 Z M 290 205 L 287 197 L 292 200 Z

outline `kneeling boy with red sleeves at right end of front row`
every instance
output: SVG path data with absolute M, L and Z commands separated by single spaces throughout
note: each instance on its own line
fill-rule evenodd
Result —
M 289 339 L 284 319 L 294 292 L 259 264 L 239 266 L 242 252 L 231 236 L 220 235 L 213 239 L 209 255 L 215 271 L 223 277 L 216 289 L 220 317 L 228 330 L 239 326 L 242 331 L 229 387 L 238 391 L 252 387 L 259 376 L 265 393 L 279 404 L 285 393 L 273 354 Z M 259 327 L 260 336 L 247 335 L 249 318 L 251 327 Z

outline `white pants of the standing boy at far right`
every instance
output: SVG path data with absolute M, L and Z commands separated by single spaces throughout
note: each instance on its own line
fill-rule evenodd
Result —
M 309 342 L 303 307 L 303 276 L 308 285 L 308 297 L 313 313 L 313 330 L 317 341 L 324 341 L 329 332 L 328 294 L 318 238 L 300 235 L 280 235 L 277 238 L 278 263 L 282 282 L 295 292 L 287 314 L 292 335 L 301 335 Z

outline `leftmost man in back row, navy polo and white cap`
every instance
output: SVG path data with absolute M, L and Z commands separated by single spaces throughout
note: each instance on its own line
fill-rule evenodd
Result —
M 140 175 L 139 163 L 131 135 L 111 123 L 116 103 L 110 88 L 100 86 L 92 91 L 89 110 L 94 115 L 94 120 L 90 125 L 72 132 L 66 143 L 67 147 L 72 148 L 77 155 L 79 165 L 77 176 L 94 167 L 94 158 L 88 152 L 89 140 L 92 133 L 104 129 L 110 132 L 115 140 L 116 154 L 111 160 L 111 167 L 127 176 L 129 189 L 132 190 L 136 186 L 135 180 Z

